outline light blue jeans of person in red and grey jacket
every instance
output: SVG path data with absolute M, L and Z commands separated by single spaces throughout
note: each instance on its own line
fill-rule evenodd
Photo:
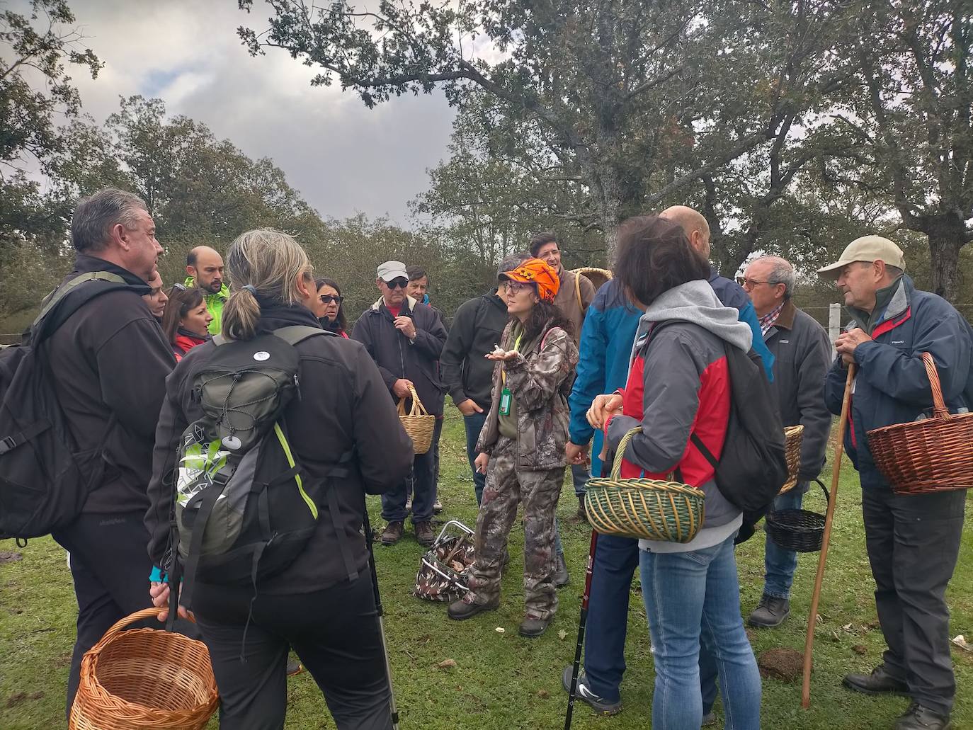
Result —
M 656 665 L 653 727 L 699 730 L 702 640 L 719 674 L 726 730 L 760 729 L 760 673 L 739 613 L 733 540 L 686 553 L 639 551 Z

